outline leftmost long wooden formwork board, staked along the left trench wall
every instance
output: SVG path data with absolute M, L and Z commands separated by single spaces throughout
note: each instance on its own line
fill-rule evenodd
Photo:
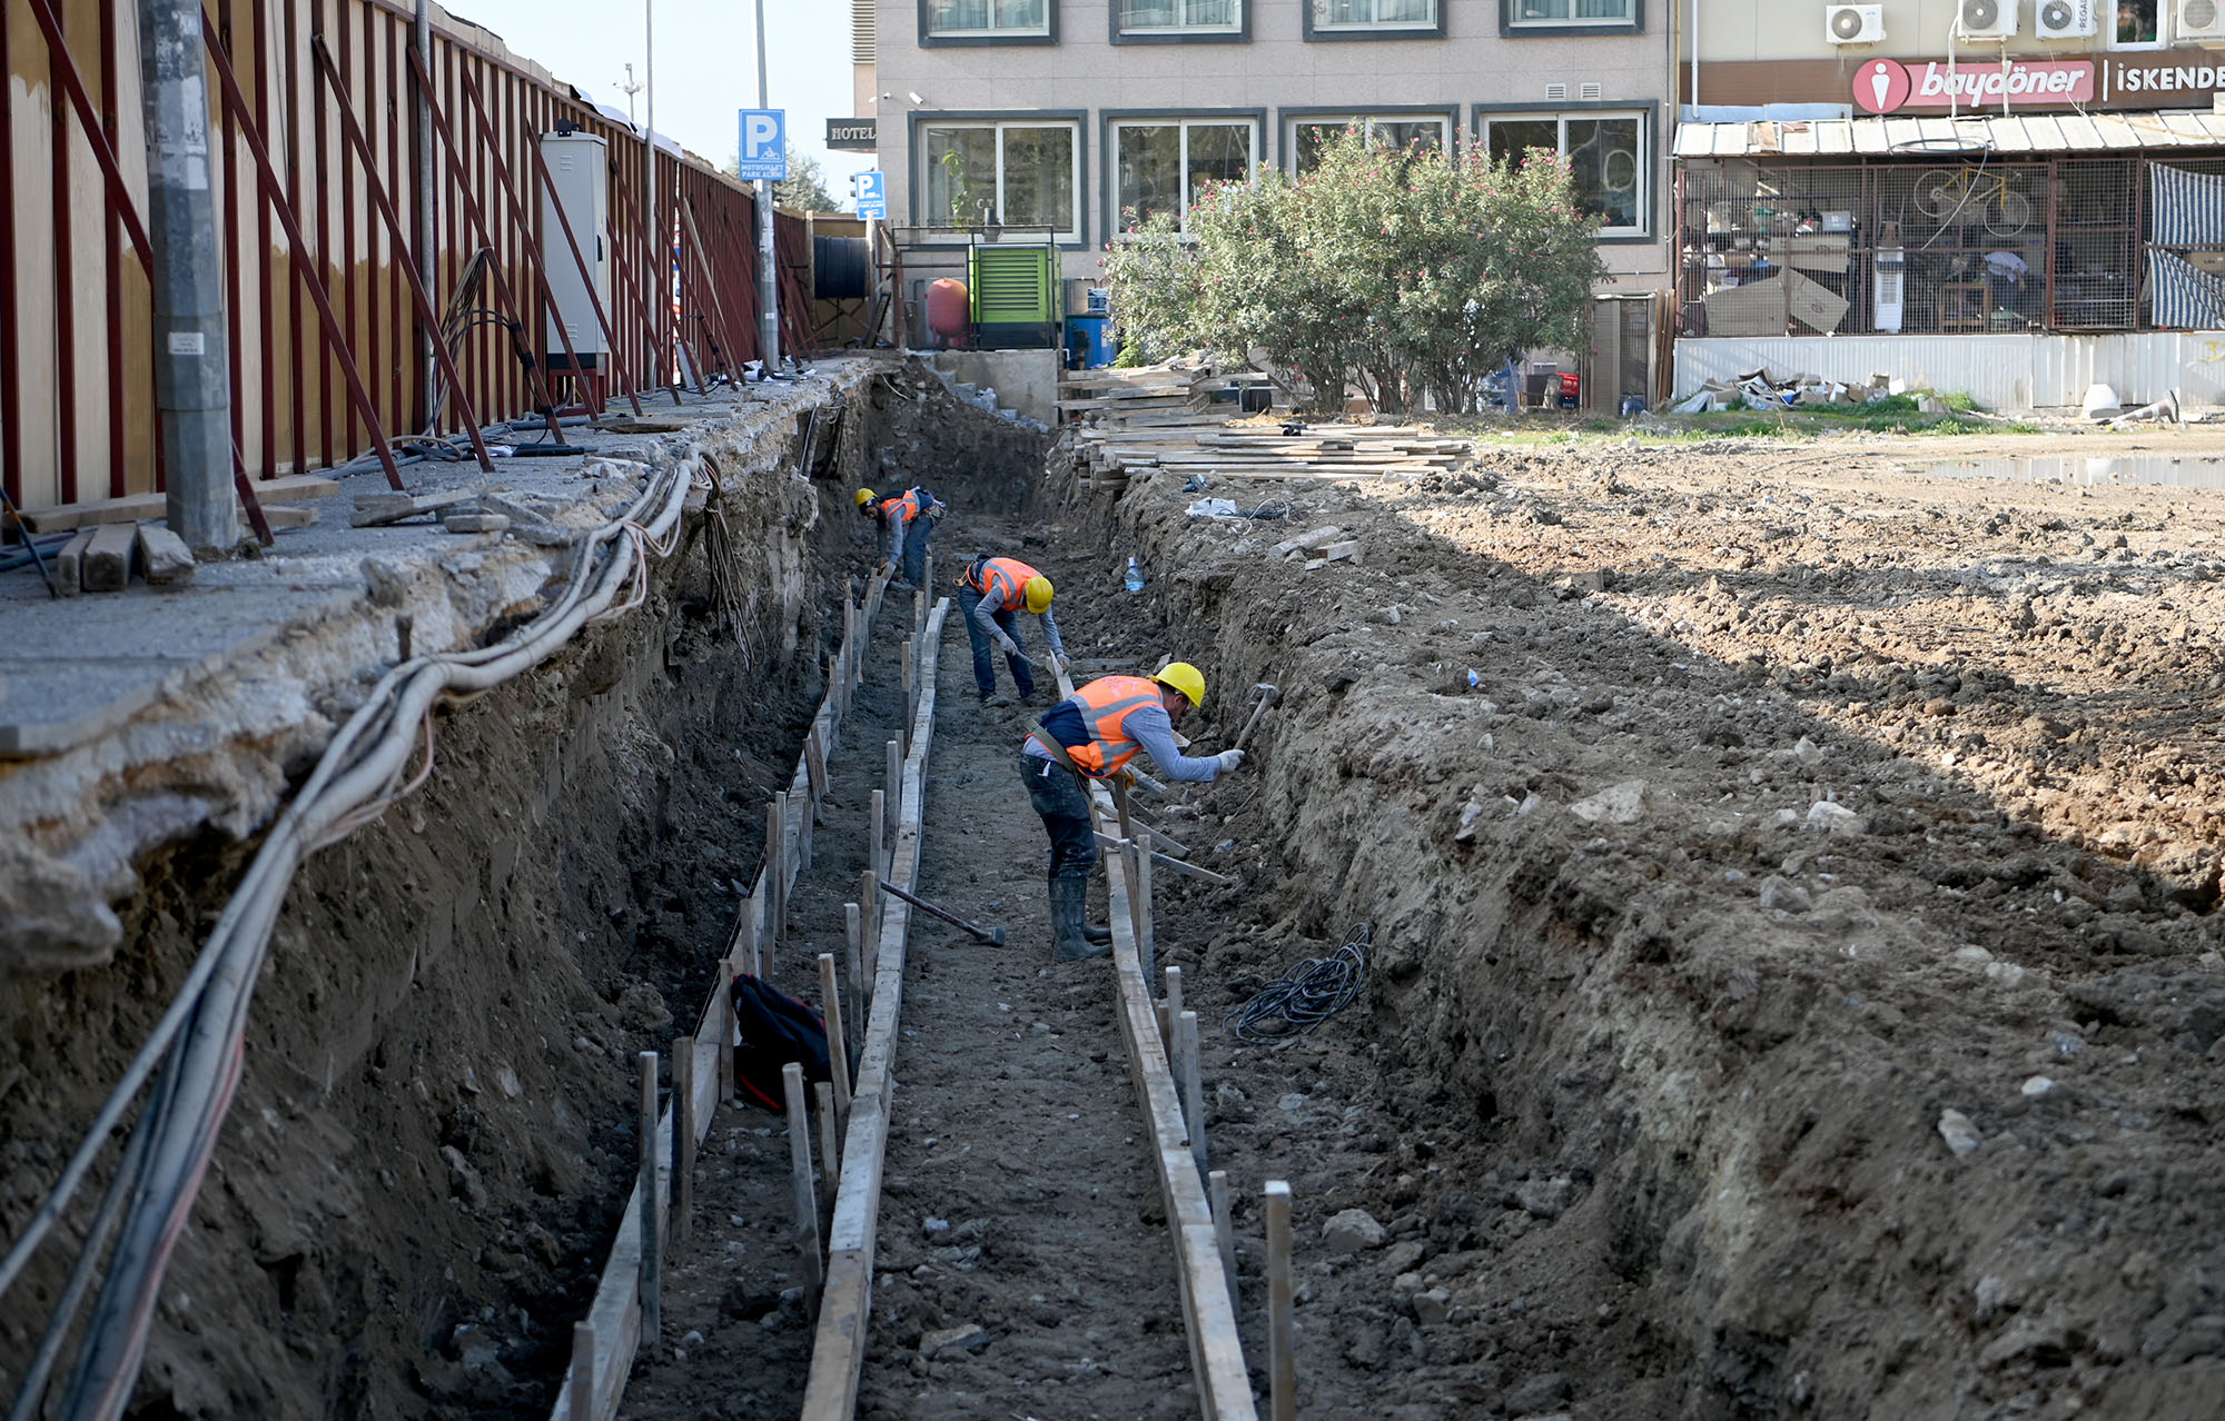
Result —
M 881 605 L 881 583 L 874 578 L 866 589 L 866 616 L 857 623 L 859 654 L 872 645 L 872 609 Z M 819 703 L 819 714 L 812 718 L 814 727 L 828 732 L 828 743 L 832 743 L 832 732 L 841 725 L 841 714 L 834 709 L 834 689 L 828 689 L 828 700 Z M 788 776 L 788 825 L 783 838 L 788 841 L 788 852 L 777 861 L 768 854 L 768 863 L 779 863 L 785 867 L 788 883 L 783 887 L 794 887 L 799 858 L 797 834 L 801 832 L 801 821 L 810 818 L 810 767 L 805 765 L 808 749 L 797 754 L 794 774 Z M 770 847 L 770 845 L 768 845 Z M 741 905 L 741 918 L 728 938 L 728 956 L 732 956 L 750 925 L 756 925 L 756 941 L 768 943 L 765 936 L 765 872 L 759 870 L 756 885 L 750 890 L 750 901 Z M 712 1127 L 712 1114 L 719 1110 L 719 1032 L 725 1025 L 725 1003 L 721 994 L 728 990 L 725 972 L 719 972 L 719 985 L 712 990 L 710 1001 L 703 1003 L 703 1014 L 694 1032 L 694 1134 L 703 1141 Z M 659 1236 L 670 1239 L 672 1234 L 672 1132 L 676 1119 L 676 1101 L 665 1105 L 659 1119 L 659 1139 L 665 1147 L 659 1152 L 656 1163 L 656 1221 Z M 854 1116 L 852 1116 L 854 1119 Z M 594 1290 L 594 1303 L 587 1310 L 587 1323 L 594 1328 L 594 1397 L 581 1410 L 572 1410 L 572 1379 L 567 1377 L 563 1390 L 556 1392 L 556 1405 L 550 1410 L 550 1421 L 610 1421 L 619 1414 L 619 1401 L 625 1397 L 625 1379 L 634 1370 L 634 1352 L 641 1350 L 641 1185 L 634 1185 L 634 1194 L 625 1201 L 625 1216 L 619 1221 L 619 1236 L 610 1248 L 610 1256 L 603 1263 L 603 1276 Z

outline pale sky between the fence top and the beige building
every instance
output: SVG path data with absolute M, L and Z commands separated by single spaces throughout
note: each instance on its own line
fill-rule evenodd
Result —
M 594 102 L 625 111 L 625 67 L 643 78 L 647 0 L 441 0 L 485 24 Z M 656 131 L 725 165 L 739 147 L 739 109 L 756 107 L 756 16 L 750 0 L 654 0 Z M 788 140 L 819 160 L 825 187 L 850 207 L 850 173 L 872 153 L 830 153 L 830 118 L 850 113 L 848 0 L 763 0 L 765 80 L 772 109 L 788 109 Z M 647 118 L 634 96 L 634 120 Z

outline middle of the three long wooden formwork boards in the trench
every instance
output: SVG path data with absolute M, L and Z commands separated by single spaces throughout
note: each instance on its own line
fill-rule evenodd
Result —
M 934 603 L 928 632 L 919 638 L 919 707 L 912 714 L 912 749 L 903 761 L 903 803 L 897 812 L 897 847 L 890 883 L 919 887 L 919 843 L 926 821 L 928 747 L 934 738 L 934 672 L 950 598 Z M 850 1421 L 866 1372 L 866 1341 L 872 1332 L 872 1250 L 881 1223 L 881 1167 L 888 1159 L 890 1070 L 897 1063 L 899 1014 L 903 1010 L 903 941 L 912 905 L 883 896 L 881 936 L 872 961 L 872 1012 L 850 1090 L 850 1130 L 843 1134 L 841 1179 L 834 1188 L 834 1223 L 828 1230 L 825 1288 L 819 1294 L 819 1332 L 812 1339 L 812 1370 L 803 1390 L 803 1421 Z

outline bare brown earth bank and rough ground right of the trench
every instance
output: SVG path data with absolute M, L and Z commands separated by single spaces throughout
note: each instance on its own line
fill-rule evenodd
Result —
M 1308 1403 L 2209 1414 L 2225 518 L 1626 454 L 1075 505 L 1224 727 L 1284 689 L 1195 821 L 1244 887 L 1170 887 L 1193 1001 L 1373 925 L 1366 1010 L 1208 1045 L 1317 1241 Z M 1322 523 L 1362 567 L 1266 560 Z

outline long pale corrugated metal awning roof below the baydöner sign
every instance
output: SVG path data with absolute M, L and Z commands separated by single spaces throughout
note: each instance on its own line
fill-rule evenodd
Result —
M 1678 158 L 1809 153 L 1947 153 L 1954 145 L 1996 153 L 2083 153 L 2225 147 L 2225 113 L 1987 113 L 1962 118 L 1816 118 L 1800 122 L 1680 122 Z

